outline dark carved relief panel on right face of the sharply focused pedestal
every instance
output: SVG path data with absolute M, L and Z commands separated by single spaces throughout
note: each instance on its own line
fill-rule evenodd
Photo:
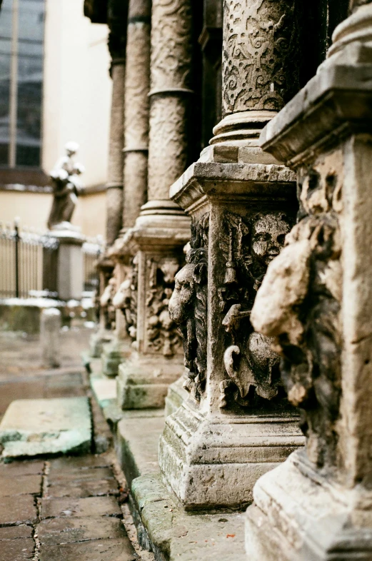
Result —
M 244 219 L 225 212 L 221 251 L 225 278 L 219 289 L 226 350 L 223 356 L 228 378 L 220 385 L 220 407 L 233 401 L 252 406 L 258 398 L 276 398 L 281 386 L 279 357 L 271 349 L 272 340 L 255 333 L 250 322 L 251 308 L 268 263 L 281 251 L 290 230 L 288 217 L 281 212 L 258 213 Z

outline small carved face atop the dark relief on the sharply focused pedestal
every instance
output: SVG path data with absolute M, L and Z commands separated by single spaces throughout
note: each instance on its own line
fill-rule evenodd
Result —
M 289 231 L 289 224 L 281 214 L 258 218 L 252 228 L 252 256 L 268 265 L 280 253 Z

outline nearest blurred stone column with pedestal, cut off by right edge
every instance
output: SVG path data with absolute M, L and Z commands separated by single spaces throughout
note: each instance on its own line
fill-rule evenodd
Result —
M 352 7 L 261 137 L 297 171 L 300 220 L 251 317 L 281 353 L 306 450 L 256 483 L 249 560 L 372 557 L 372 3 Z

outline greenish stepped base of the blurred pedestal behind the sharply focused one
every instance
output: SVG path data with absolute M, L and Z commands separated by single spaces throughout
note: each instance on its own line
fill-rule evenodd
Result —
M 136 353 L 119 366 L 118 405 L 121 409 L 163 408 L 169 385 L 184 370 L 180 356 L 163 358 Z

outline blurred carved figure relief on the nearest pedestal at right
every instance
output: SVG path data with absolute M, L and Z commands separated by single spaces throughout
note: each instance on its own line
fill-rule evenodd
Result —
M 268 266 L 251 313 L 256 330 L 274 338 L 288 400 L 303 411 L 308 457 L 318 466 L 336 462 L 342 169 L 336 153 L 303 170 L 301 219 L 286 236 L 282 253 Z

